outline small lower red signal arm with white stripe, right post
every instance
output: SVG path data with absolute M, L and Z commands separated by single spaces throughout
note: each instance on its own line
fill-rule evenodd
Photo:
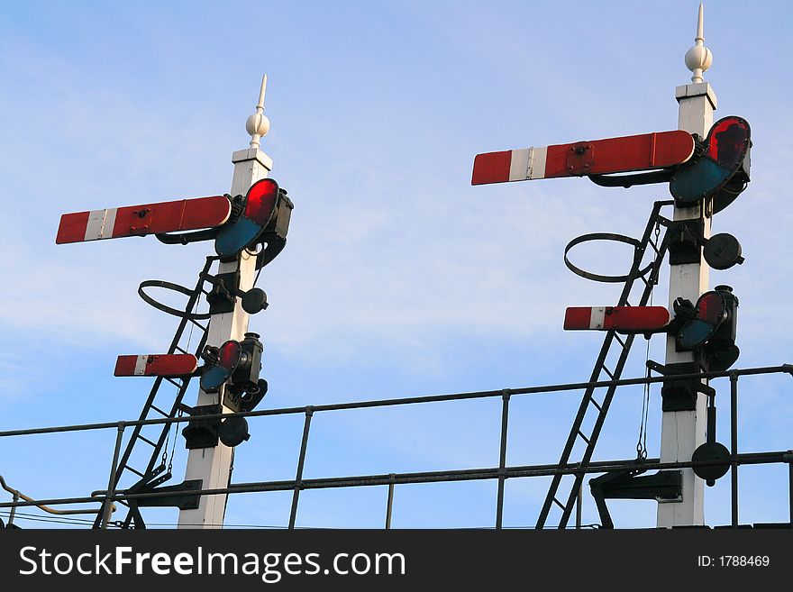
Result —
M 665 332 L 670 322 L 663 306 L 570 306 L 564 314 L 566 331 Z

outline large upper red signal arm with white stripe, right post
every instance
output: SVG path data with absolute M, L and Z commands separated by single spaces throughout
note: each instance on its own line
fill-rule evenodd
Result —
M 682 130 L 486 152 L 474 159 L 471 185 L 669 168 L 693 154 L 694 138 Z

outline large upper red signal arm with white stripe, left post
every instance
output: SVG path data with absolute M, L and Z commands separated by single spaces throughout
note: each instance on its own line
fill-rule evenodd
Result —
M 214 228 L 225 223 L 231 213 L 232 203 L 226 196 L 209 196 L 63 214 L 55 242 L 97 241 Z

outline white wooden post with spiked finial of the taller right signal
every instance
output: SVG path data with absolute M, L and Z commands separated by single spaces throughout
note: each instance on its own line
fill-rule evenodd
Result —
M 703 6 L 699 5 L 697 37 L 695 45 L 686 52 L 686 66 L 693 72 L 691 83 L 675 89 L 679 102 L 678 127 L 705 138 L 713 125 L 716 110 L 716 93 L 702 75 L 713 62 L 713 55 L 705 47 L 703 33 Z M 675 207 L 674 219 L 696 220 L 702 205 Z M 711 218 L 705 216 L 705 238 L 710 238 Z M 702 259 L 698 263 L 670 266 L 670 302 L 679 296 L 691 302 L 708 289 L 709 268 Z M 675 351 L 675 337 L 670 335 L 666 343 L 666 364 L 694 361 L 690 351 Z M 688 462 L 697 446 L 705 442 L 706 396 L 697 394 L 697 405 L 693 411 L 668 411 L 661 418 L 661 462 Z M 683 469 L 683 498 L 679 502 L 658 505 L 657 525 L 660 528 L 705 524 L 705 487 L 702 479 L 694 475 L 693 469 Z

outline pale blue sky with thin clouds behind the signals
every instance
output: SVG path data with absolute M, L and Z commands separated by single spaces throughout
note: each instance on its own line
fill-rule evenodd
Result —
M 0 430 L 137 417 L 148 379 L 114 378 L 114 360 L 163 351 L 176 328 L 137 286 L 192 286 L 211 245 L 56 246 L 59 216 L 227 192 L 263 72 L 272 127 L 261 147 L 295 203 L 287 248 L 260 278 L 270 306 L 251 319 L 265 343 L 263 406 L 588 378 L 601 336 L 563 332 L 564 309 L 612 304 L 618 290 L 571 274 L 564 245 L 584 232 L 638 235 L 666 187 L 471 187 L 473 157 L 674 129 L 697 2 L 163 4 L 29 2 L 0 15 L 10 205 L 0 330 L 14 344 L 0 351 Z M 711 271 L 711 286 L 740 298 L 741 368 L 791 361 L 793 212 L 780 166 L 793 132 L 791 15 L 783 2 L 706 4 L 716 117 L 743 116 L 754 141 L 752 183 L 714 223 L 742 242 L 746 262 Z M 623 273 L 630 252 L 577 256 Z M 643 373 L 639 344 L 625 377 Z M 654 338 L 652 359 L 662 349 Z M 788 380 L 745 380 L 742 451 L 791 448 Z M 728 386 L 715 386 L 728 443 Z M 516 397 L 508 464 L 557 461 L 578 403 L 578 393 Z M 651 456 L 660 405 L 654 388 Z M 641 390 L 617 396 L 598 459 L 633 456 L 640 413 Z M 499 421 L 496 400 L 318 414 L 305 477 L 495 466 Z M 301 430 L 299 416 L 253 421 L 233 480 L 294 478 Z M 0 474 L 30 496 L 85 496 L 106 486 L 113 440 L 2 439 Z M 180 440 L 175 482 L 186 457 Z M 742 469 L 742 522 L 786 520 L 786 479 L 781 467 Z M 533 524 L 545 487 L 508 482 L 505 524 Z M 495 492 L 492 482 L 397 487 L 394 525 L 491 526 Z M 708 523 L 729 521 L 728 493 L 727 479 L 708 488 Z M 289 500 L 232 496 L 227 524 L 283 526 Z M 379 527 L 385 500 L 383 487 L 304 492 L 297 524 Z M 591 500 L 584 514 L 597 522 Z M 655 505 L 615 504 L 613 515 L 654 525 Z

